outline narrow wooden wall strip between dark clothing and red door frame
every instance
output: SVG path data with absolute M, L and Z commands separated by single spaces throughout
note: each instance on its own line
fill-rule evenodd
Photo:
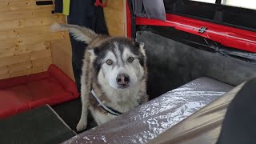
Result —
M 104 15 L 110 35 L 126 36 L 126 0 L 109 0 Z

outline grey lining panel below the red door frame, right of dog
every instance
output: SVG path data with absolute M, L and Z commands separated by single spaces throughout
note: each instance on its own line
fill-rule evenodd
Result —
M 198 50 L 148 31 L 138 31 L 137 41 L 146 47 L 150 98 L 200 77 L 237 86 L 256 76 L 256 66 L 249 62 Z

